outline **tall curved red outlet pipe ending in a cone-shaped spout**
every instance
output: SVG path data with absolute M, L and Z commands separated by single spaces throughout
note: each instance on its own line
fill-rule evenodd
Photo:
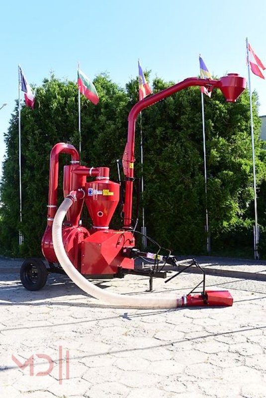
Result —
M 186 89 L 191 86 L 204 86 L 204 87 L 216 87 L 221 90 L 228 102 L 235 102 L 237 98 L 246 88 L 246 79 L 240 77 L 238 74 L 228 74 L 222 77 L 220 80 L 211 79 L 198 79 L 188 78 L 183 80 L 176 85 L 169 87 L 160 93 L 154 94 L 153 96 L 147 97 L 144 100 L 137 102 L 128 115 L 128 135 L 126 152 L 124 153 L 123 159 L 125 160 L 125 204 L 124 204 L 124 228 L 132 228 L 132 193 L 133 193 L 133 179 L 134 179 L 134 147 L 135 147 L 135 125 L 138 114 L 148 106 L 163 100 L 178 91 Z

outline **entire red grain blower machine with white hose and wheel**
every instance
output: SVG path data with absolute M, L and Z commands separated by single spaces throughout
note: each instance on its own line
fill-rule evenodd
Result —
M 228 291 L 205 291 L 204 270 L 194 259 L 184 267 L 180 266 L 175 256 L 144 253 L 135 247 L 136 231 L 132 225 L 132 197 L 137 116 L 147 106 L 190 86 L 219 88 L 228 102 L 235 102 L 246 88 L 246 79 L 237 74 L 228 74 L 220 80 L 188 78 L 137 102 L 133 106 L 128 116 L 127 144 L 122 160 L 125 174 L 125 198 L 121 230 L 109 229 L 109 223 L 120 196 L 120 184 L 109 180 L 109 168 L 81 166 L 79 153 L 72 145 L 58 143 L 53 147 L 50 157 L 47 227 L 42 238 L 42 252 L 49 268 L 40 259 L 26 259 L 20 270 L 21 282 L 26 289 L 31 291 L 41 289 L 50 272 L 67 273 L 78 286 L 93 297 L 115 304 L 164 307 L 232 305 L 233 298 Z M 71 155 L 71 164 L 64 167 L 65 200 L 58 209 L 58 162 L 61 153 Z M 90 229 L 80 225 L 84 203 L 93 224 Z M 154 265 L 150 268 L 137 269 L 135 267 L 137 258 L 147 258 L 150 261 L 152 259 Z M 167 277 L 167 272 L 163 269 L 165 264 L 176 267 L 177 273 L 174 276 L 186 271 L 189 267 L 197 267 L 197 271 L 203 274 L 203 280 L 200 282 L 202 292 L 191 294 L 199 284 L 188 295 L 178 299 L 174 298 L 171 303 L 166 303 L 165 300 L 162 303 L 160 299 L 156 298 L 153 304 L 145 301 L 141 305 L 137 299 L 137 296 L 140 297 L 139 295 L 126 296 L 112 293 L 110 294 L 112 297 L 105 298 L 102 296 L 103 290 L 87 280 L 87 278 L 123 278 L 125 274 L 146 275 L 150 278 L 150 290 L 152 290 L 153 277 Z M 173 276 L 170 279 L 172 278 Z M 101 292 L 94 292 L 95 289 Z M 121 299 L 117 298 L 116 300 L 114 296 L 119 296 Z M 147 295 L 145 296 L 147 297 Z M 126 297 L 133 299 L 127 301 Z

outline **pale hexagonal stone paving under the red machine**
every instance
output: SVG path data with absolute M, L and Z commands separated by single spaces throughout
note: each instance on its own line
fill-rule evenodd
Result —
M 113 308 L 61 275 L 28 292 L 19 264 L 0 259 L 0 397 L 266 397 L 266 282 L 207 275 L 207 289 L 234 297 L 227 308 Z M 199 279 L 186 273 L 154 288 L 180 297 Z M 94 283 L 148 288 L 138 276 Z

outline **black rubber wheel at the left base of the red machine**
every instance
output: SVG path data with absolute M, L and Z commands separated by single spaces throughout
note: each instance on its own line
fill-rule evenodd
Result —
M 48 271 L 39 258 L 28 258 L 20 268 L 20 280 L 24 288 L 30 291 L 40 290 L 47 280 Z

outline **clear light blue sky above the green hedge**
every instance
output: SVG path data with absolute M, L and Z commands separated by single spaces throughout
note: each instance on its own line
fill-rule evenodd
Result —
M 265 15 L 265 0 L 2 2 L 0 106 L 7 105 L 0 109 L 0 162 L 18 98 L 18 64 L 37 86 L 51 72 L 76 80 L 80 62 L 91 79 L 107 72 L 124 87 L 137 76 L 138 58 L 152 79 L 178 82 L 198 75 L 200 53 L 214 75 L 247 77 L 246 37 L 266 64 Z M 266 81 L 252 75 L 251 86 L 259 93 L 260 115 L 266 114 Z

